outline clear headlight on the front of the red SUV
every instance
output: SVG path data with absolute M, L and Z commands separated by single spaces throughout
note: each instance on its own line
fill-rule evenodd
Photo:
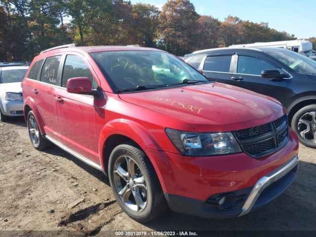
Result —
M 214 156 L 241 152 L 231 132 L 198 133 L 167 128 L 166 133 L 185 156 Z

